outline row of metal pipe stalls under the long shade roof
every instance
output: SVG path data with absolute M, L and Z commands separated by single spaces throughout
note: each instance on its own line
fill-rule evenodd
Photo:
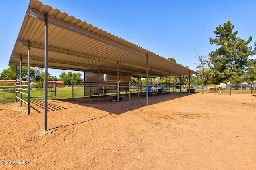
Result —
M 156 83 L 156 82 L 135 82 L 130 83 L 127 81 L 86 81 L 83 85 L 74 85 L 72 83 L 72 98 L 81 97 L 100 97 L 100 96 L 113 96 L 114 100 L 122 100 L 122 97 L 128 97 L 130 94 L 140 96 L 158 96 L 163 94 L 172 94 L 175 92 L 183 92 L 183 85 L 172 84 L 172 83 Z M 184 87 L 183 87 L 184 88 Z M 193 87 L 190 88 L 192 93 Z M 194 91 L 197 90 L 198 86 L 194 85 Z M 186 92 L 189 92 L 187 89 Z

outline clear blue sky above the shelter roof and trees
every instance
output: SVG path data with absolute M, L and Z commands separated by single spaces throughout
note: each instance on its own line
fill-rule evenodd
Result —
M 215 51 L 209 38 L 228 20 L 237 37 L 256 41 L 255 0 L 41 0 L 77 19 L 196 70 L 196 49 Z M 29 0 L 0 0 L 0 72 L 8 68 Z M 255 59 L 255 56 L 249 57 Z M 48 69 L 52 76 L 68 70 Z M 73 71 L 72 71 L 73 72 Z M 84 75 L 84 74 L 82 74 Z M 83 76 L 82 76 L 83 77 Z

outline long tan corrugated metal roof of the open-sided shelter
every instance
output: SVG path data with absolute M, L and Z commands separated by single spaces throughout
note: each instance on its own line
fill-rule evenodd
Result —
M 30 42 L 31 66 L 44 67 L 44 20 L 48 14 L 48 68 L 146 76 L 146 55 L 149 74 L 154 76 L 197 74 L 151 51 L 125 41 L 58 9 L 31 0 L 22 23 L 10 64 L 28 63 Z

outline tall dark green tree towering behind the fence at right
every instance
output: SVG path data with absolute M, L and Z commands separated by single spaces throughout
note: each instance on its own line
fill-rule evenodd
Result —
M 248 66 L 248 56 L 254 54 L 252 46 L 249 43 L 252 37 L 247 41 L 236 37 L 238 31 L 234 31 L 234 25 L 228 21 L 223 27 L 216 27 L 216 38 L 210 38 L 210 44 L 220 46 L 216 51 L 211 51 L 210 61 L 214 70 L 214 83 L 227 82 L 231 80 L 235 83 L 243 81 L 243 74 Z

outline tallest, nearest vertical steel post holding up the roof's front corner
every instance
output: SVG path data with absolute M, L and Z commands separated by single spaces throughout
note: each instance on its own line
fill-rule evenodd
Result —
M 48 102 L 48 16 L 44 15 L 44 131 L 47 131 Z

